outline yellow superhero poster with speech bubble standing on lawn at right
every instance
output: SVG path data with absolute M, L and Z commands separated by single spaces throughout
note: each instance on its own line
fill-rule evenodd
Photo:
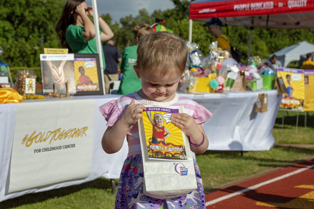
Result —
M 304 111 L 304 70 L 278 68 L 277 74 L 286 87 L 280 108 Z

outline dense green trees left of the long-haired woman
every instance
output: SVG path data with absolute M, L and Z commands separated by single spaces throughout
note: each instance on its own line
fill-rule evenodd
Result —
M 64 4 L 63 0 L 2 0 L 1 61 L 13 66 L 40 66 L 43 48 L 59 47 L 54 27 Z

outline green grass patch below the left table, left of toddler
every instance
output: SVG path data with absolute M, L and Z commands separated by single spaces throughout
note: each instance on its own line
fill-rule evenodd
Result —
M 111 182 L 108 179 L 99 178 L 84 184 L 16 197 L 0 202 L 0 208 L 112 209 L 114 202 L 115 194 L 111 194 Z

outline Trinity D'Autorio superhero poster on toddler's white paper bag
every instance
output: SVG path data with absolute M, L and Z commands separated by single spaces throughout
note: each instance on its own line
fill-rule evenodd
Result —
M 187 160 L 181 129 L 171 123 L 172 113 L 178 109 L 146 107 L 143 112 L 143 130 L 149 159 Z M 142 138 L 143 139 L 143 138 Z

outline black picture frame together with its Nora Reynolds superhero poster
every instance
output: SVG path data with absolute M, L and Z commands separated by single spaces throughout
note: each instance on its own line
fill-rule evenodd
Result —
M 98 54 L 74 54 L 75 96 L 103 95 Z

